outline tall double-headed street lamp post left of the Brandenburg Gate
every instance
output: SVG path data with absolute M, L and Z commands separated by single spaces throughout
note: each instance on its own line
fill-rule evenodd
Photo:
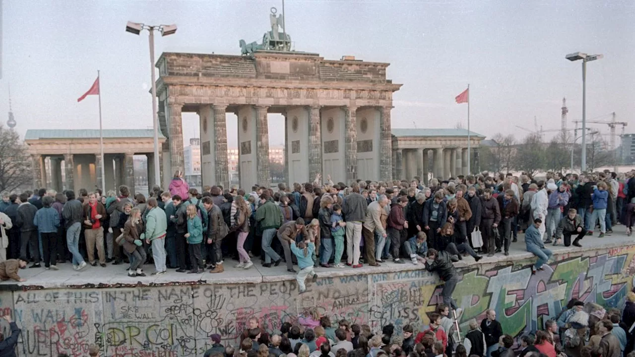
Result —
M 161 36 L 169 36 L 177 32 L 177 25 L 145 25 L 137 22 L 126 24 L 126 31 L 138 35 L 142 30 L 150 32 L 150 71 L 152 73 L 152 129 L 154 130 L 154 184 L 161 185 L 161 170 L 159 166 L 159 116 L 157 114 L 157 87 L 154 74 L 154 30 L 161 32 Z

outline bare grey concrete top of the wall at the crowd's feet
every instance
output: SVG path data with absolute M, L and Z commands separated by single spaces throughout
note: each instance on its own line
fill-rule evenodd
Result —
M 548 248 L 554 253 L 568 253 L 579 252 L 580 250 L 593 250 L 598 248 L 610 248 L 613 246 L 629 245 L 635 242 L 632 237 L 627 237 L 624 234 L 624 226 L 615 227 L 615 233 L 611 236 L 605 236 L 605 238 L 598 238 L 598 234 L 595 236 L 586 236 L 582 239 L 583 248 L 577 248 L 575 246 L 552 246 Z M 491 264 L 496 262 L 505 262 L 510 260 L 520 260 L 531 257 L 530 253 L 525 250 L 525 241 L 523 234 L 519 234 L 518 242 L 512 243 L 510 247 L 510 255 L 505 257 L 502 253 L 498 253 L 494 257 L 485 257 L 479 263 L 476 263 L 472 257 L 465 257 L 462 262 L 456 264 L 457 267 L 470 266 L 474 264 Z M 87 266 L 83 271 L 74 271 L 70 264 L 60 264 L 59 271 L 46 271 L 44 268 L 23 269 L 19 272 L 22 278 L 27 281 L 24 283 L 15 283 L 14 281 L 4 281 L 0 283 L 0 290 L 17 290 L 23 288 L 81 288 L 83 286 L 152 286 L 163 285 L 170 283 L 183 283 L 183 284 L 229 284 L 229 283 L 260 283 L 267 281 L 282 281 L 295 279 L 295 274 L 288 273 L 284 262 L 278 267 L 266 268 L 262 267 L 259 259 L 254 259 L 254 266 L 251 269 L 236 269 L 234 265 L 237 264 L 235 260 L 225 262 L 225 272 L 220 274 L 210 274 L 206 271 L 202 274 L 184 274 L 176 273 L 173 269 L 168 269 L 168 274 L 162 276 L 147 276 L 144 278 L 130 278 L 126 275 L 127 265 L 118 265 L 107 267 L 91 267 Z M 297 267 L 296 267 L 297 268 Z M 354 274 L 368 274 L 368 273 L 391 273 L 395 271 L 406 271 L 422 269 L 421 265 L 413 266 L 408 262 L 407 264 L 394 264 L 387 262 L 382 264 L 381 267 L 364 266 L 359 269 L 352 269 L 346 267 L 345 269 L 331 268 L 326 269 L 323 267 L 316 268 L 316 273 L 320 276 L 343 276 Z M 144 271 L 149 274 L 154 271 L 154 266 L 146 265 Z

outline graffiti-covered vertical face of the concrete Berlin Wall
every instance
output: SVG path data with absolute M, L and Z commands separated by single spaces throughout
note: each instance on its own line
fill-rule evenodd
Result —
M 573 297 L 622 307 L 632 288 L 634 256 L 635 245 L 567 253 L 535 275 L 530 269 L 535 259 L 528 258 L 464 267 L 454 294 L 465 309 L 462 327 L 493 308 L 503 330 L 518 337 L 556 316 Z M 422 327 L 440 299 L 440 283 L 420 267 L 320 278 L 309 283 L 312 293 L 303 295 L 295 280 L 25 290 L 0 292 L 0 314 L 11 314 L 22 328 L 19 356 L 66 352 L 79 357 L 91 344 L 106 356 L 201 356 L 210 347 L 211 333 L 236 344 L 251 316 L 274 332 L 311 308 L 335 325 L 346 319 L 375 331 L 387 323 L 398 332 L 406 324 Z

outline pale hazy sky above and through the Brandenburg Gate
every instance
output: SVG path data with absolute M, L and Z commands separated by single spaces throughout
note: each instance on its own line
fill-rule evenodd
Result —
M 0 0 L 3 1 L 3 0 Z M 281 1 L 24 1 L 3 2 L 0 112 L 11 84 L 17 130 L 98 128 L 97 97 L 77 103 L 102 71 L 104 128 L 152 126 L 147 34 L 126 21 L 177 24 L 157 37 L 163 51 L 238 55 L 238 41 L 261 41 L 269 8 Z M 588 64 L 587 118 L 617 113 L 634 132 L 635 3 L 632 0 L 287 0 L 288 33 L 298 51 L 389 62 L 394 128 L 466 125 L 467 105 L 454 97 L 471 85 L 471 128 L 523 137 L 538 126 L 559 128 L 566 97 L 570 127 L 582 116 L 580 62 L 567 53 L 603 53 Z M 6 122 L 6 114 L 0 117 Z M 269 116 L 271 145 L 283 144 L 281 116 Z M 228 120 L 229 146 L 236 122 Z M 608 133 L 606 125 L 596 125 Z M 618 130 L 619 133 L 619 130 Z M 198 135 L 184 114 L 185 142 Z

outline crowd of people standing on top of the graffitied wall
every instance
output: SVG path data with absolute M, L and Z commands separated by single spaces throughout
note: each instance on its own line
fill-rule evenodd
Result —
M 582 246 L 596 226 L 601 238 L 618 222 L 630 235 L 634 173 L 548 172 L 538 181 L 481 174 L 431 179 L 427 186 L 419 177 L 335 184 L 318 176 L 292 187 L 279 184 L 276 191 L 255 185 L 251 192 L 220 186 L 198 192 L 177 171 L 168 190 L 156 186 L 149 198 L 132 196 L 125 185 L 105 195 L 99 189 L 81 189 L 77 196 L 50 189 L 4 192 L 0 278 L 20 280 L 17 271 L 27 262 L 53 270 L 67 261 L 76 270 L 125 262 L 136 277 L 145 276 L 144 264 L 154 264 L 154 275 L 167 269 L 222 273 L 226 259 L 249 269 L 260 257 L 264 267 L 284 261 L 304 292 L 305 279 L 317 278 L 314 267 L 387 260 L 432 265 L 467 255 L 478 261 L 481 254 L 509 255 L 519 231 L 538 258 L 536 271 L 551 257 L 550 243 Z

